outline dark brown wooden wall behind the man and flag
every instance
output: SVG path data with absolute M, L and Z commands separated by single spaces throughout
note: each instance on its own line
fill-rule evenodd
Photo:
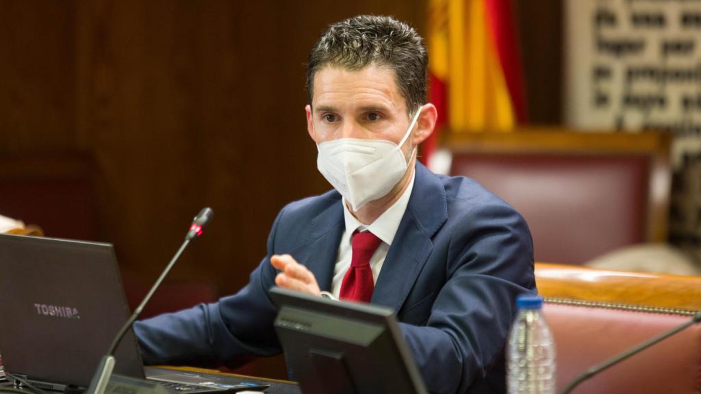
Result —
M 83 238 L 114 243 L 123 275 L 150 282 L 210 206 L 170 278 L 234 292 L 278 210 L 329 189 L 305 128 L 308 50 L 360 13 L 425 35 L 426 12 L 424 0 L 0 0 L 0 172 L 88 179 L 68 186 L 80 203 L 29 188 L 0 214 L 36 217 L 47 236 L 91 222 Z M 562 4 L 516 1 L 515 18 L 530 121 L 559 124 Z M 69 219 L 26 213 L 39 211 Z

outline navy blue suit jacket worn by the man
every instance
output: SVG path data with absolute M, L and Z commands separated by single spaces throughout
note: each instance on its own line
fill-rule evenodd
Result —
M 268 255 L 242 290 L 135 324 L 144 362 L 212 365 L 280 353 L 269 258 L 291 254 L 330 290 L 343 226 L 336 191 L 287 205 L 268 237 Z M 471 179 L 417 164 L 371 302 L 397 314 L 429 390 L 505 392 L 503 350 L 515 299 L 535 288 L 531 236 L 521 215 Z

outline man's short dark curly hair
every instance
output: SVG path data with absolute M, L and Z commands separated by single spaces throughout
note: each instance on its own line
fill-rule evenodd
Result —
M 312 103 L 314 75 L 326 66 L 359 70 L 369 64 L 393 70 L 395 83 L 411 114 L 426 103 L 428 53 L 414 28 L 389 16 L 358 15 L 330 25 L 307 62 L 307 100 Z

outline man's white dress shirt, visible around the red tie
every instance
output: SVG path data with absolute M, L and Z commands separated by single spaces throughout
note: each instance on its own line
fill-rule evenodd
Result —
M 404 217 L 404 211 L 407 210 L 407 205 L 409 204 L 409 197 L 411 196 L 411 190 L 414 189 L 414 177 L 416 177 L 416 172 L 411 175 L 411 180 L 409 181 L 409 186 L 404 190 L 402 196 L 395 201 L 394 204 L 390 206 L 380 217 L 375 219 L 369 226 L 362 224 L 355 219 L 351 211 L 348 210 L 346 206 L 346 201 L 341 201 L 343 203 L 343 219 L 346 222 L 346 229 L 341 235 L 341 243 L 339 244 L 339 252 L 336 257 L 336 266 L 334 267 L 334 279 L 331 283 L 331 292 L 334 297 L 338 298 L 341 292 L 341 283 L 343 282 L 343 276 L 346 276 L 346 271 L 351 268 L 351 237 L 355 230 L 358 231 L 370 231 L 375 234 L 377 238 L 380 238 L 382 242 L 380 243 L 377 250 L 370 258 L 370 269 L 372 269 L 372 280 L 377 283 L 377 277 L 380 275 L 380 270 L 382 269 L 382 264 L 385 262 L 385 257 L 387 257 L 387 252 L 390 250 L 390 245 L 394 240 L 397 229 L 399 229 L 399 224 L 402 222 L 402 217 Z

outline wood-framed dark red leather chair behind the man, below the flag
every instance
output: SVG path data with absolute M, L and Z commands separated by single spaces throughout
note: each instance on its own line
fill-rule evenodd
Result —
M 667 240 L 670 136 L 526 129 L 451 133 L 450 172 L 524 215 L 536 261 L 584 264 L 622 246 Z

